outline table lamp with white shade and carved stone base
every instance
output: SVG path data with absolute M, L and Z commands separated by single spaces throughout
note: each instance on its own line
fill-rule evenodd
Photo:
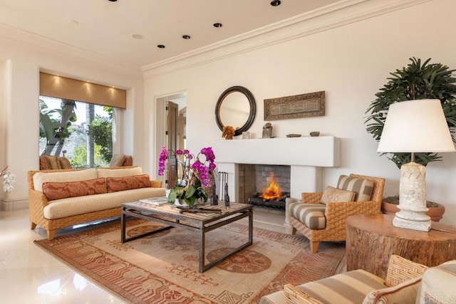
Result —
M 410 100 L 390 105 L 378 152 L 411 152 L 412 161 L 400 168 L 399 211 L 393 226 L 430 230 L 425 214 L 425 167 L 415 162 L 415 152 L 455 152 L 440 100 Z

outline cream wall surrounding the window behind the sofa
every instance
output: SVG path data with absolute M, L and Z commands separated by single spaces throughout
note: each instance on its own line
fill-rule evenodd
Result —
M 0 191 L 3 209 L 28 206 L 28 170 L 38 169 L 39 71 L 58 73 L 94 83 L 125 88 L 127 110 L 118 134 L 115 152 L 133 154 L 141 165 L 143 137 L 142 72 L 106 58 L 77 51 L 68 46 L 41 41 L 26 33 L 0 27 L 0 167 L 9 165 L 16 174 L 14 191 Z

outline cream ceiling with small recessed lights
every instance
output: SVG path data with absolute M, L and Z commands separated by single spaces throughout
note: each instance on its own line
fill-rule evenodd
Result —
M 0 0 L 0 26 L 141 68 L 338 1 Z

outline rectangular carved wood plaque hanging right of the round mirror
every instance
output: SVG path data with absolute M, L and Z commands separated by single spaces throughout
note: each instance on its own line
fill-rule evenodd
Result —
M 264 120 L 325 115 L 325 91 L 264 100 Z

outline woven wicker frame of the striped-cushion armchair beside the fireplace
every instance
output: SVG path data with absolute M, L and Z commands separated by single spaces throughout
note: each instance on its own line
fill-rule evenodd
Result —
M 350 177 L 358 179 L 370 179 L 373 181 L 373 190 L 369 201 L 345 201 L 328 202 L 326 207 L 320 203 L 323 192 L 303 193 L 302 202 L 306 204 L 318 204 L 324 207 L 324 217 L 326 226 L 324 229 L 310 229 L 300 219 L 290 214 L 290 224 L 292 234 L 296 230 L 304 234 L 311 243 L 311 252 L 316 253 L 318 244 L 321 241 L 345 241 L 346 239 L 346 219 L 355 214 L 378 214 L 380 213 L 383 198 L 383 188 L 385 179 L 380 177 L 368 177 L 365 175 L 350 174 Z M 296 203 L 294 203 L 296 204 Z

